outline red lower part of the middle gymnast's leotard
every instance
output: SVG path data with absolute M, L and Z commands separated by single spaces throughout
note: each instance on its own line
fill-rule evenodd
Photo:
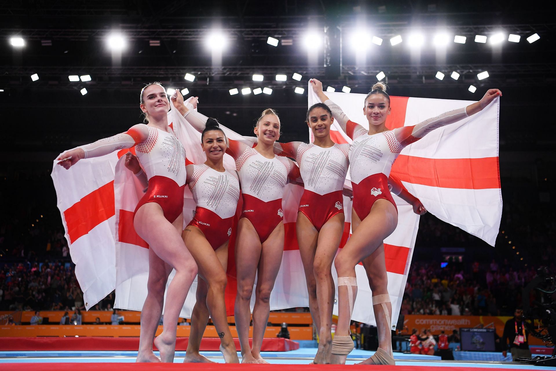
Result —
M 245 217 L 251 222 L 262 244 L 284 219 L 282 199 L 265 202 L 251 195 L 244 194 L 243 197 L 244 206 L 240 219 Z

